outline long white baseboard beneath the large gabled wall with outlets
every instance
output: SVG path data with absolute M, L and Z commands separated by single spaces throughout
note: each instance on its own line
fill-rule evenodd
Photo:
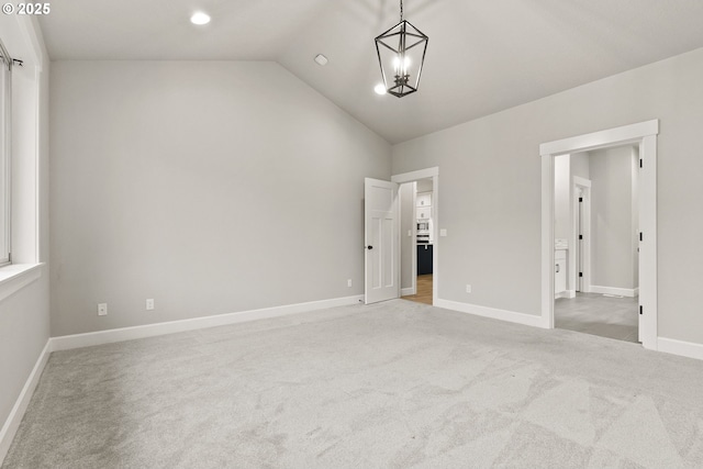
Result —
M 326 308 L 346 306 L 349 304 L 358 304 L 359 300 L 362 301 L 364 295 L 333 298 L 330 300 L 310 301 L 306 303 L 287 304 L 284 306 L 264 308 L 260 310 L 239 311 L 236 313 L 216 314 L 213 316 L 193 317 L 190 320 L 121 327 L 108 331 L 89 332 L 86 334 L 64 335 L 51 338 L 52 350 L 68 350 L 71 348 L 90 347 L 93 345 L 110 344 L 113 342 L 132 340 L 135 338 L 153 337 L 157 335 L 174 334 L 177 332 L 194 331 L 247 321 L 286 316 L 288 314 L 324 310 Z

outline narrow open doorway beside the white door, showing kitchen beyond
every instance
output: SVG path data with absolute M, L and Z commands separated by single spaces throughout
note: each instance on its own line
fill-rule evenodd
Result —
M 400 187 L 401 298 L 432 304 L 434 275 L 434 187 L 432 178 Z

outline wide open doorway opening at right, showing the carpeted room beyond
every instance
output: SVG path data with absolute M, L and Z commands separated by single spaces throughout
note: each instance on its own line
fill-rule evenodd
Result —
M 639 340 L 639 145 L 555 157 L 555 327 Z

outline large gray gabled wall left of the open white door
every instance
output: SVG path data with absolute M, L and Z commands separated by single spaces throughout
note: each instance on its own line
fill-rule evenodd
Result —
M 390 145 L 279 65 L 56 62 L 51 116 L 52 335 L 362 293 Z

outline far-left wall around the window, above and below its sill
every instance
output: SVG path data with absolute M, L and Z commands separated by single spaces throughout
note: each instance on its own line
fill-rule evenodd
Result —
M 36 22 L 0 16 L 0 37 L 23 68 L 13 75 L 13 250 L 22 263 L 48 261 L 48 75 Z M 38 120 L 38 125 L 37 125 Z M 49 337 L 48 271 L 0 301 L 0 427 Z M 8 435 L 8 438 L 12 435 Z M 9 440 L 0 442 L 0 464 Z

